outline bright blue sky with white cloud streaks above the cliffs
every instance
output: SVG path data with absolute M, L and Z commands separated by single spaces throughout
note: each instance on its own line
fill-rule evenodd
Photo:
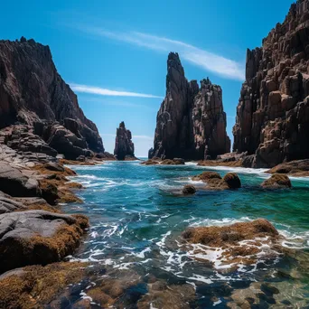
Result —
M 79 96 L 106 150 L 118 124 L 132 131 L 136 155 L 153 145 L 165 94 L 168 52 L 179 52 L 188 80 L 223 89 L 228 134 L 235 123 L 247 48 L 261 45 L 291 0 L 5 1 L 1 39 L 50 45 L 62 78 Z

